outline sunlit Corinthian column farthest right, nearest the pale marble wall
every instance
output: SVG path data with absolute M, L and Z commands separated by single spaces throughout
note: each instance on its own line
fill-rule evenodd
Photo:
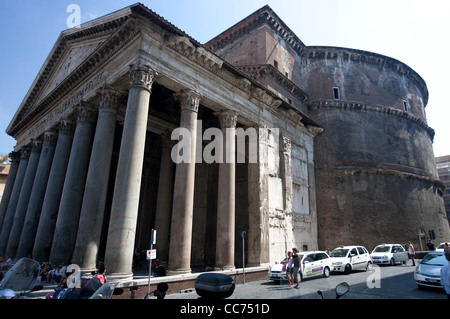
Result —
M 234 111 L 216 112 L 222 130 L 224 156 L 219 164 L 217 194 L 216 268 L 234 269 L 235 180 L 236 180 L 236 122 Z

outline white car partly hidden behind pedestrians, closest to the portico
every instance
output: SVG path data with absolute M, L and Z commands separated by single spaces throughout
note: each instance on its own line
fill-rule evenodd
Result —
M 329 277 L 333 270 L 330 256 L 324 251 L 302 251 L 298 253 L 301 263 L 299 281 L 315 276 Z M 287 258 L 281 263 L 271 267 L 268 273 L 269 279 L 274 281 L 287 280 Z

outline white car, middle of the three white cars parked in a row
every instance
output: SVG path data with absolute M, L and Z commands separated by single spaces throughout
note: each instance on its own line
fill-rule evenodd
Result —
M 330 253 L 333 271 L 349 274 L 353 270 L 372 270 L 372 259 L 363 246 L 340 246 Z

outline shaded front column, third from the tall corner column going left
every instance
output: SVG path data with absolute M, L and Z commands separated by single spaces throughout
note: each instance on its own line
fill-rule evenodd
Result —
M 69 263 L 72 258 L 97 115 L 97 110 L 86 102 L 81 102 L 75 110 L 77 126 L 50 253 L 54 265 Z

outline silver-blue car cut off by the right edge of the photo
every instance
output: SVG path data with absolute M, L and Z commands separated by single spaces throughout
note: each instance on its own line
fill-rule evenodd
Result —
M 414 280 L 419 288 L 441 286 L 441 268 L 448 263 L 443 251 L 430 251 L 414 271 Z

